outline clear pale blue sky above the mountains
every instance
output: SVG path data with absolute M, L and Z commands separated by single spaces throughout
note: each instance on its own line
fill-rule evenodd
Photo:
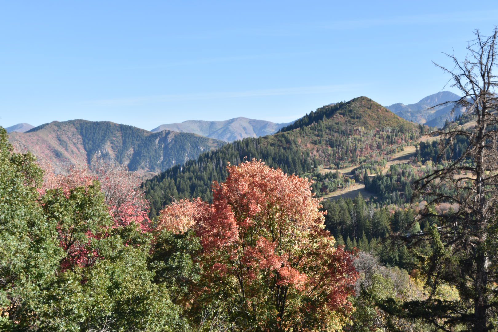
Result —
M 344 3 L 347 2 L 347 3 Z M 0 125 L 109 120 L 152 129 L 287 122 L 367 96 L 441 91 L 431 60 L 498 24 L 482 1 L 0 1 Z M 446 88 L 451 90 L 451 88 Z M 451 90 L 452 91 L 452 90 Z

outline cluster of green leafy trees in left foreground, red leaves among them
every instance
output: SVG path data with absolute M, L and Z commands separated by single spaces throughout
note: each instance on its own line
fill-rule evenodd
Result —
M 153 282 L 150 235 L 113 221 L 99 182 L 44 193 L 41 178 L 0 128 L 0 329 L 187 330 Z

